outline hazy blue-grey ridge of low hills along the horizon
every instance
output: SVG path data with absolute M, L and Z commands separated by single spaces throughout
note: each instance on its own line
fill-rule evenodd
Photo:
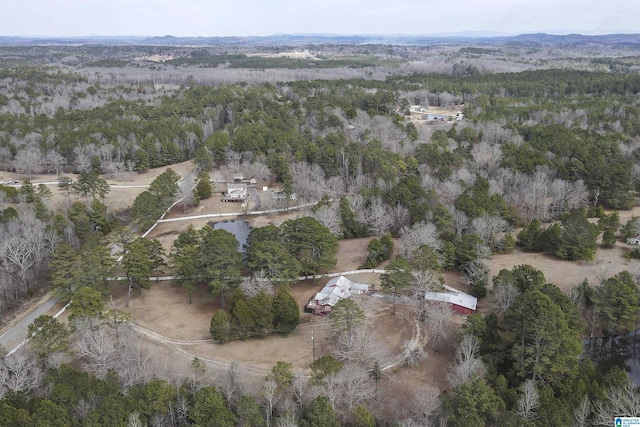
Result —
M 502 33 L 463 31 L 444 34 L 274 34 L 270 36 L 176 37 L 165 36 L 87 36 L 87 37 L 14 37 L 0 36 L 0 46 L 31 45 L 149 45 L 149 46 L 309 46 L 322 44 L 447 45 L 467 42 L 481 45 L 638 45 L 640 34 L 554 35 L 546 33 L 505 35 Z

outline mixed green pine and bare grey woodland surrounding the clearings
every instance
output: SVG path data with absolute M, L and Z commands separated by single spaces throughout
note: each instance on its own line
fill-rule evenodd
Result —
M 607 426 L 640 416 L 624 361 L 640 320 L 629 262 L 640 250 L 625 243 L 640 234 L 637 47 L 305 48 L 316 59 L 260 46 L 0 46 L 0 322 L 48 292 L 70 313 L 38 317 L 25 348 L 4 349 L 0 424 Z M 191 172 L 174 171 L 187 161 Z M 125 208 L 110 206 L 113 183 L 150 172 Z M 244 247 L 209 226 L 164 246 L 143 237 L 175 203 L 192 209 L 215 197 L 217 178 L 238 175 L 313 207 L 253 228 Z M 201 288 L 220 301 L 215 345 L 258 348 L 299 327 L 290 285 L 332 272 L 339 243 L 365 237 L 363 267 L 383 265 L 393 315 L 408 307 L 429 331 L 392 370 L 357 299 L 330 316 L 333 354 L 314 353 L 304 371 L 274 360 L 257 379 L 235 363 L 163 366 L 127 307 L 109 303 L 114 281 L 128 306 L 154 276 L 172 275 L 185 310 Z M 569 287 L 526 264 L 492 268 L 513 251 L 587 265 L 616 248 L 623 271 Z M 425 303 L 450 275 L 479 299 L 459 327 Z M 428 365 L 452 334 L 444 385 L 396 400 L 397 371 Z

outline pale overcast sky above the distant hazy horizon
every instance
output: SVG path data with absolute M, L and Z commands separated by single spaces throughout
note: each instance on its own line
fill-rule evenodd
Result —
M 638 0 L 0 0 L 0 35 L 640 33 Z

